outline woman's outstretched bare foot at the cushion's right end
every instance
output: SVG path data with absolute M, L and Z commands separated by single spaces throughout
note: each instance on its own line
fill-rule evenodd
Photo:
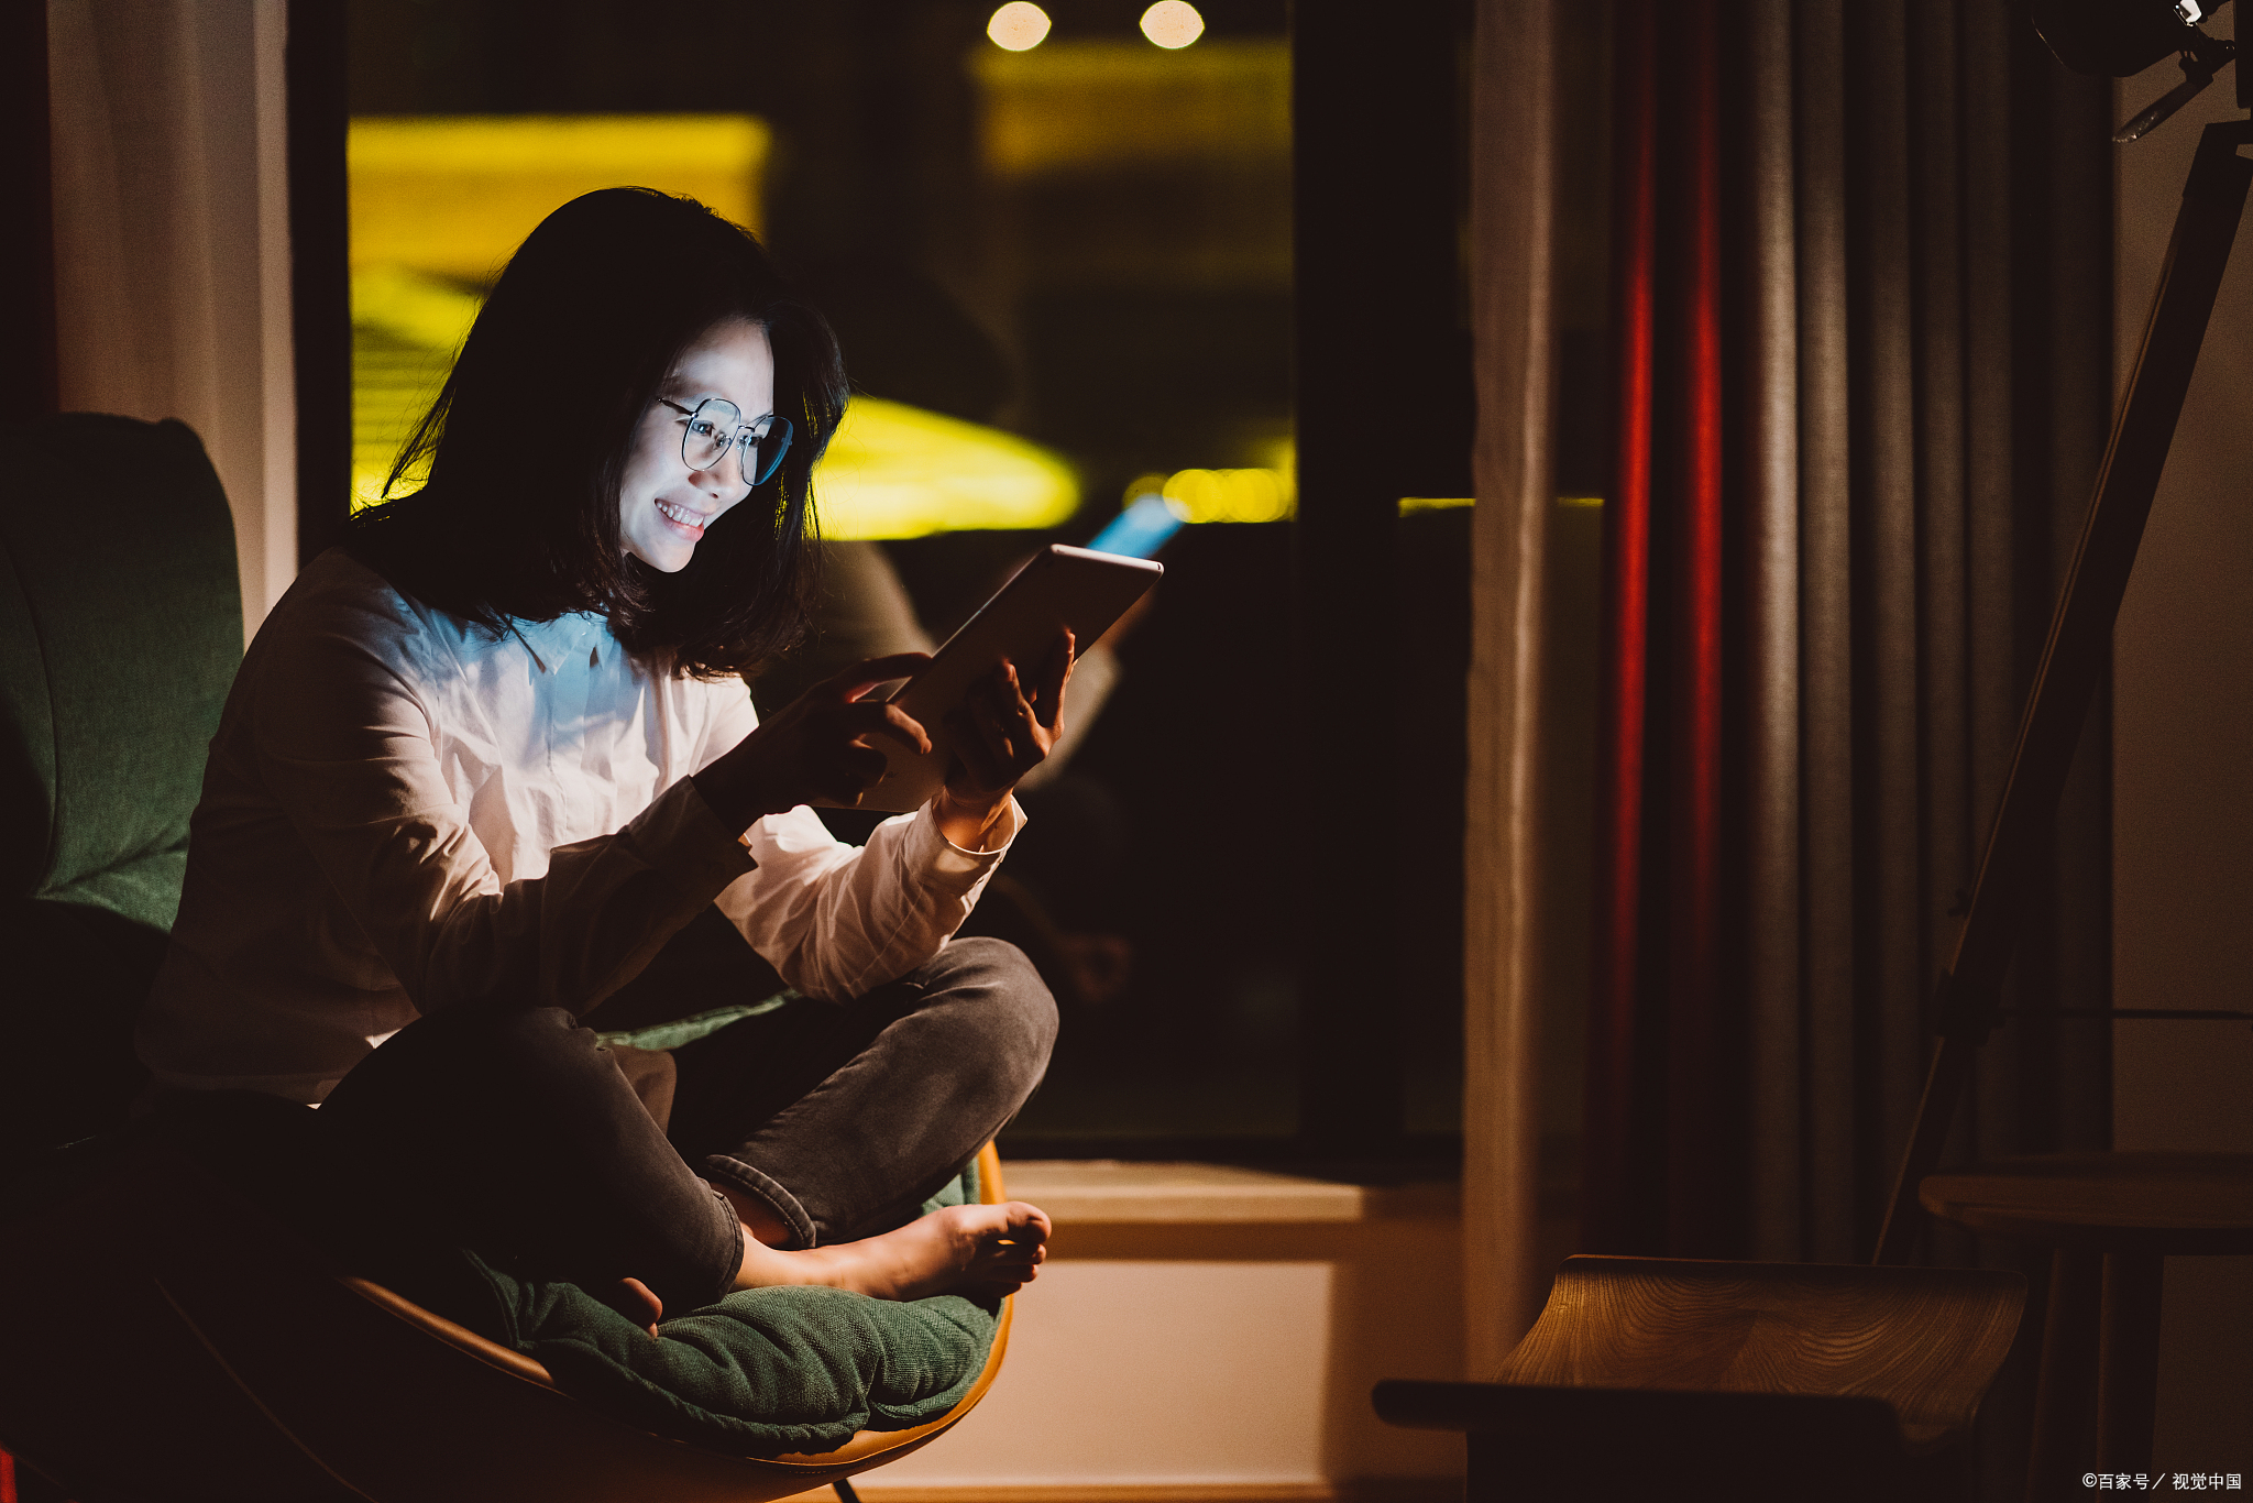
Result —
M 949 1206 L 899 1230 L 827 1248 L 786 1253 L 743 1237 L 737 1289 L 827 1284 L 879 1300 L 930 1293 L 1003 1296 L 1039 1278 L 1048 1260 L 1048 1212 L 1025 1201 Z

